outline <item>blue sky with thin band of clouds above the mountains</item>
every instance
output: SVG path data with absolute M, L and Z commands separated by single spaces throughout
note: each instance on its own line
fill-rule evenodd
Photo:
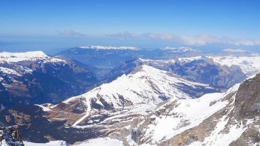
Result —
M 1 0 L 0 50 L 127 45 L 257 51 L 259 15 L 260 0 Z

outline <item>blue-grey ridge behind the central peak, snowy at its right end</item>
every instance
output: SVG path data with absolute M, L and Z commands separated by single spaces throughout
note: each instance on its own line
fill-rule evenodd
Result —
M 260 56 L 196 56 L 168 60 L 134 59 L 121 63 L 103 75 L 111 80 L 132 72 L 139 65 L 149 65 L 188 79 L 210 84 L 217 89 L 229 89 L 245 78 L 260 72 Z

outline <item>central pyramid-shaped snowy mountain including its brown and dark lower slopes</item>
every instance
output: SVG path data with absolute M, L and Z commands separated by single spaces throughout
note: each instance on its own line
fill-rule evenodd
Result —
M 207 84 L 192 82 L 178 75 L 142 65 L 115 81 L 56 105 L 14 106 L 12 110 L 1 113 L 1 117 L 9 115 L 11 120 L 2 119 L 0 122 L 16 122 L 22 125 L 23 132 L 28 133 L 24 136 L 26 139 L 29 139 L 28 135 L 38 131 L 35 128 L 39 129 L 40 133 L 37 133 L 37 137 L 30 137 L 31 141 L 44 142 L 46 139 L 63 138 L 62 140 L 72 144 L 106 136 L 125 128 L 130 135 L 132 119 L 144 119 L 161 102 L 167 99 L 197 98 L 209 92 L 216 90 Z M 28 112 L 26 109 L 31 110 Z M 35 115 L 36 119 L 15 118 Z M 40 127 L 33 124 L 36 121 Z

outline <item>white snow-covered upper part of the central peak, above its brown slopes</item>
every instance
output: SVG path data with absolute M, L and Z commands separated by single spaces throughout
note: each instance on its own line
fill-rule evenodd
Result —
M 142 102 L 157 105 L 169 98 L 198 97 L 201 95 L 199 92 L 194 92 L 194 94 L 191 92 L 202 88 L 213 90 L 209 85 L 187 81 L 178 75 L 142 65 L 128 75 L 123 74 L 111 83 L 103 84 L 80 96 L 69 98 L 63 103 L 69 104 L 79 98 L 85 98 L 85 106 L 90 107 L 88 102 L 95 101 L 91 103 L 95 103 L 96 106 L 103 109 L 120 108 Z

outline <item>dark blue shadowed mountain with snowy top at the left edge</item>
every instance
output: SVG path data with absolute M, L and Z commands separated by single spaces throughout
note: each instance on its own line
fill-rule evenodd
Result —
M 16 104 L 59 102 L 91 89 L 93 74 L 73 60 L 42 52 L 0 52 L 0 110 Z

